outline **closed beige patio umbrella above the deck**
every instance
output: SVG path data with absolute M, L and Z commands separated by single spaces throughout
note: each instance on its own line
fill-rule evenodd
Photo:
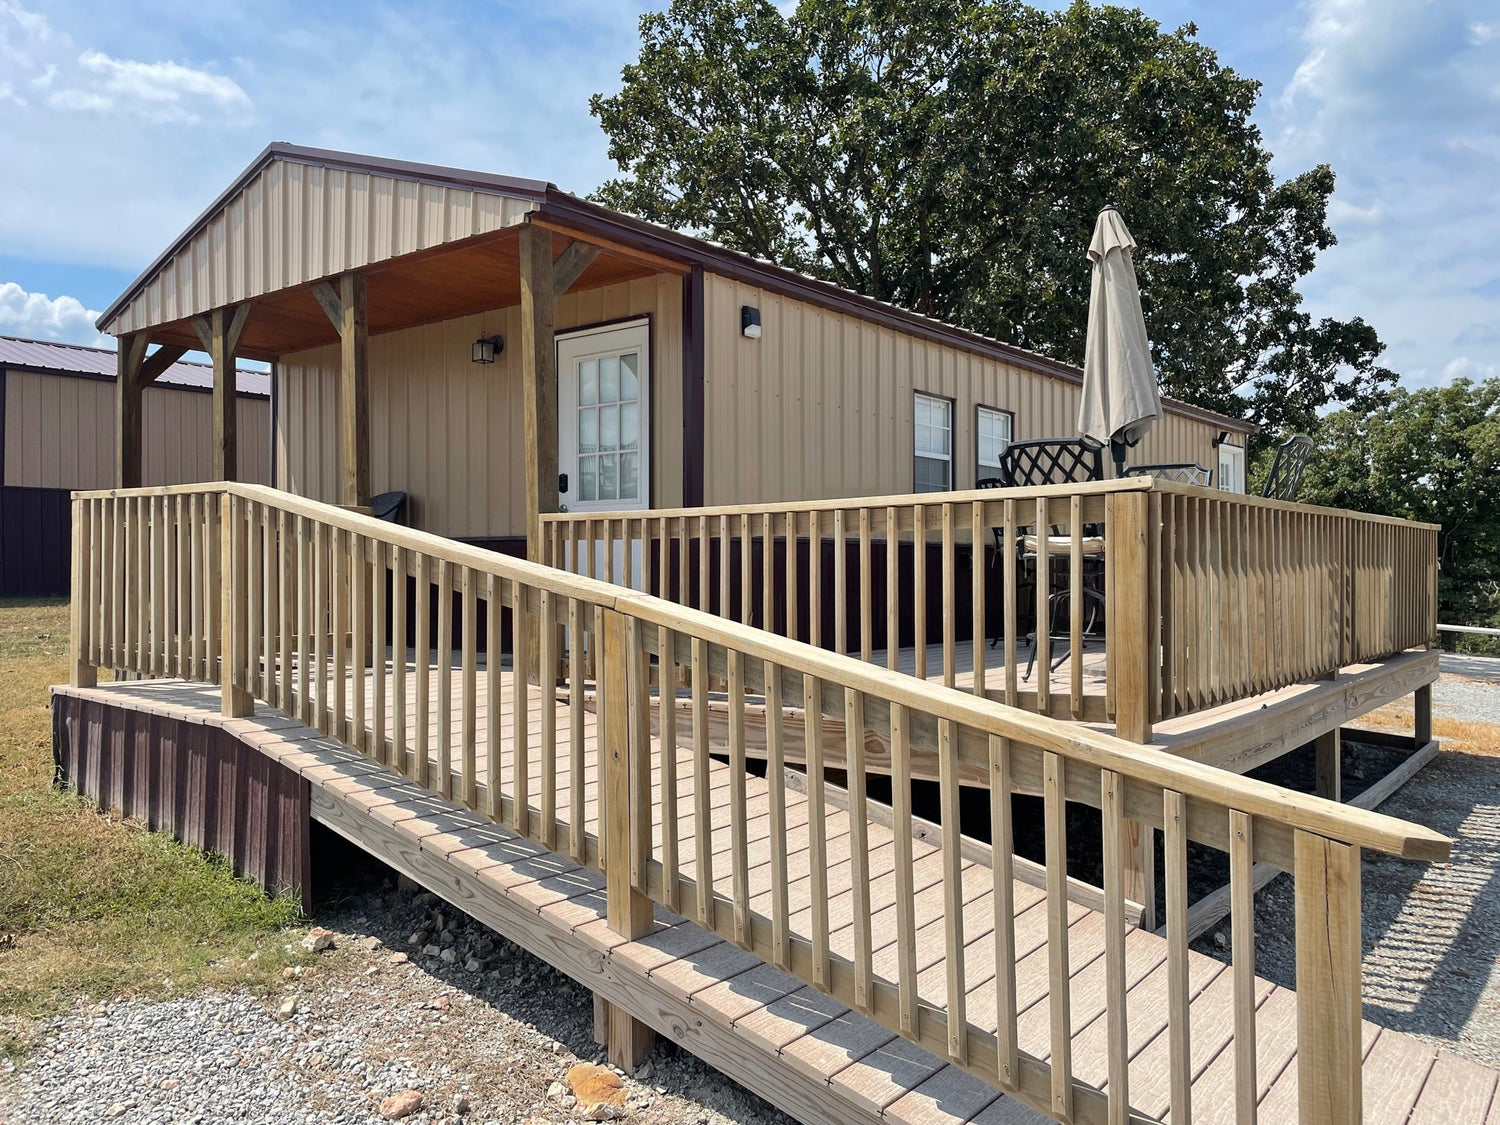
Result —
M 1078 432 L 1110 442 L 1114 476 L 1125 472 L 1125 448 L 1146 436 L 1150 423 L 1161 417 L 1161 393 L 1136 286 L 1134 249 L 1136 240 L 1120 213 L 1113 207 L 1100 212 L 1089 243 L 1094 286 Z

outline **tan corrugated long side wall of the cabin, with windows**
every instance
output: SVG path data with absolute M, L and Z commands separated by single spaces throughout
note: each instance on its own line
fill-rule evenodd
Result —
M 1016 438 L 1077 434 L 1078 387 L 844 314 L 705 274 L 705 496 L 710 504 L 912 490 L 912 394 L 956 399 L 954 480 L 975 482 L 975 406 Z M 762 336 L 740 333 L 740 306 Z M 1131 460 L 1216 468 L 1216 428 L 1167 414 Z

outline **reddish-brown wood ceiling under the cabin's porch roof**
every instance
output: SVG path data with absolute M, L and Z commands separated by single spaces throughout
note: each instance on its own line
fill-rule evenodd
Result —
M 568 244 L 554 236 L 554 254 Z M 520 303 L 518 228 L 495 231 L 464 243 L 390 258 L 366 272 L 369 333 L 468 316 Z M 648 278 L 660 267 L 627 254 L 603 249 L 572 291 Z M 152 330 L 154 344 L 200 346 L 186 320 Z M 250 309 L 238 356 L 274 360 L 279 356 L 338 344 L 339 334 L 312 296 L 312 284 L 258 297 Z

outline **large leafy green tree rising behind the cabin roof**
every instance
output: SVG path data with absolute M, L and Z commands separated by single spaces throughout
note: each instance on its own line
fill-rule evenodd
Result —
M 1258 82 L 1188 24 L 1078 0 L 674 0 L 591 110 L 603 202 L 1080 362 L 1084 248 L 1124 212 L 1156 370 L 1270 434 L 1395 376 L 1298 282 L 1334 244 L 1324 165 L 1276 183 Z

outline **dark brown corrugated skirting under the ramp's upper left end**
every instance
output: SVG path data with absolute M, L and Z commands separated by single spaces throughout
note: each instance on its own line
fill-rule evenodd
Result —
M 308 780 L 228 730 L 52 696 L 57 780 L 312 908 Z

